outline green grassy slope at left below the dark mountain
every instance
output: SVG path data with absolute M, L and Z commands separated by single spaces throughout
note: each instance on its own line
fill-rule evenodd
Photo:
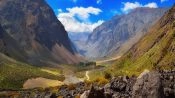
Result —
M 21 89 L 24 82 L 30 78 L 44 77 L 61 80 L 57 75 L 14 61 L 3 54 L 0 54 L 0 60 L 0 89 Z

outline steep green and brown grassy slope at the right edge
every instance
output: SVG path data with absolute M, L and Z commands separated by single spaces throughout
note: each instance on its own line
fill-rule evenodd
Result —
M 117 73 L 175 68 L 175 5 L 117 63 Z

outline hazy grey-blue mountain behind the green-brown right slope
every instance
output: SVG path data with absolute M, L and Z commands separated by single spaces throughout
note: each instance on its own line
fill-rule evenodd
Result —
M 116 15 L 97 27 L 86 42 L 85 56 L 120 56 L 131 48 L 166 11 L 166 8 L 136 8 Z M 145 14 L 146 13 L 146 14 Z

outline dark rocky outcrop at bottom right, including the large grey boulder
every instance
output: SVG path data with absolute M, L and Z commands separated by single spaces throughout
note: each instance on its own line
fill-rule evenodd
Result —
M 99 96 L 100 97 L 99 97 Z M 137 79 L 119 77 L 103 88 L 92 87 L 82 98 L 174 98 L 175 71 L 143 72 Z

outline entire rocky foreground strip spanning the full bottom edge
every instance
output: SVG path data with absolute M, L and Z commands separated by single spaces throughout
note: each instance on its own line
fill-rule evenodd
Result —
M 1 91 L 0 98 L 175 98 L 175 71 L 144 71 L 117 77 L 104 86 L 81 82 L 49 89 Z

